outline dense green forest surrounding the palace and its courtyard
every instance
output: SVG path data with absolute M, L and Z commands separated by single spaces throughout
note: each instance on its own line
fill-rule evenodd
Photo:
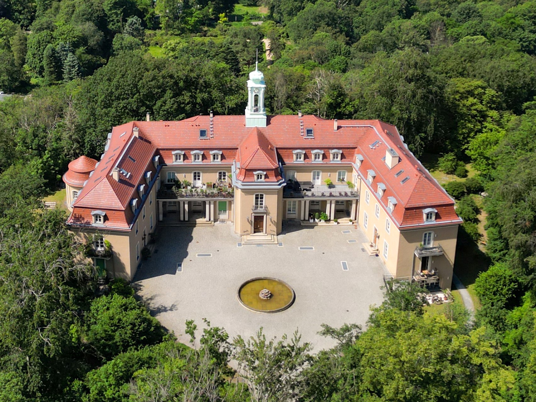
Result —
M 441 154 L 458 255 L 489 265 L 474 319 L 400 284 L 316 355 L 193 322 L 190 348 L 128 284 L 98 292 L 43 196 L 114 125 L 242 114 L 256 50 L 269 113 L 379 118 Z M 536 1 L 0 0 L 0 400 L 536 401 L 535 53 Z

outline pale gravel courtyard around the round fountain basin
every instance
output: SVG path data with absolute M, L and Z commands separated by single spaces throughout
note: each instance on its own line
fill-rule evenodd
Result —
M 278 337 L 298 329 L 302 340 L 311 342 L 317 352 L 334 345 L 331 339 L 317 334 L 322 323 L 364 325 L 369 306 L 383 300 L 380 286 L 385 267 L 378 257 L 361 250 L 366 239 L 353 226 L 286 225 L 278 236 L 282 247 L 237 247 L 241 239 L 230 224 L 159 230 L 156 251 L 140 267 L 133 284 L 162 325 L 185 343 L 184 322 L 195 319 L 198 327 L 203 327 L 202 319 L 207 318 L 213 326 L 224 327 L 231 337 L 249 337 L 260 326 L 267 336 Z M 342 261 L 347 262 L 346 271 Z M 179 272 L 177 263 L 181 262 Z M 293 306 L 276 314 L 242 307 L 237 289 L 259 276 L 287 282 L 296 293 Z

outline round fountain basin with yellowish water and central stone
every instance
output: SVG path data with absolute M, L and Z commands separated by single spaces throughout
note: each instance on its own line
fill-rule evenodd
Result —
M 293 289 L 275 278 L 254 278 L 240 285 L 236 294 L 245 308 L 257 312 L 279 312 L 294 303 Z

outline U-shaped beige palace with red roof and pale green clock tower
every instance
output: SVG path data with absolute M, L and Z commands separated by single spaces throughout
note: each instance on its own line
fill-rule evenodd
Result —
M 67 224 L 84 237 L 94 264 L 131 280 L 159 225 L 210 230 L 227 222 L 244 244 L 277 244 L 286 222 L 337 219 L 359 225 L 368 238 L 362 247 L 392 278 L 449 288 L 461 219 L 397 128 L 267 116 L 265 89 L 256 68 L 245 116 L 165 122 L 147 115 L 114 127 L 99 161 L 69 164 Z M 374 258 L 356 250 L 356 258 Z

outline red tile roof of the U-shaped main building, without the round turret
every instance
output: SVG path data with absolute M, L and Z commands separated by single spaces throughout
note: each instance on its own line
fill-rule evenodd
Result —
M 292 151 L 305 151 L 301 163 L 316 163 L 311 160 L 311 151 L 322 150 L 325 164 L 330 161 L 329 151 L 337 148 L 342 151 L 341 161 L 329 162 L 329 166 L 355 163 L 355 155 L 361 154 L 359 173 L 363 180 L 367 178 L 367 170 L 376 173 L 370 190 L 376 193 L 377 183 L 385 184 L 384 195 L 379 199 L 384 209 L 387 210 L 388 197 L 397 200 L 392 211 L 397 226 L 422 224 L 422 209 L 431 206 L 438 211 L 436 224 L 460 221 L 453 199 L 407 149 L 395 126 L 378 120 L 338 121 L 336 130 L 334 125 L 333 120 L 316 116 L 279 115 L 267 117 L 266 127 L 257 128 L 246 127 L 244 116 L 195 116 L 182 121 L 130 122 L 116 126 L 105 153 L 73 206 L 75 210 L 130 211 L 130 200 L 137 197 L 136 189 L 144 172 L 154 171 L 155 154 L 161 156 L 160 162 L 171 165 L 172 152 L 176 150 L 185 152 L 183 163 L 191 163 L 190 153 L 194 150 L 203 152 L 202 163 L 211 163 L 210 151 L 222 151 L 221 163 L 240 162 L 239 180 L 254 181 L 253 172 L 262 170 L 266 171 L 265 181 L 277 182 L 281 180 L 278 160 L 284 165 L 297 165 Z M 133 136 L 135 127 L 139 129 L 139 138 Z M 208 138 L 199 138 L 200 129 L 207 130 Z M 307 129 L 312 129 L 312 137 L 307 137 Z M 382 160 L 389 148 L 400 159 L 392 169 Z M 115 181 L 111 169 L 116 165 L 130 175 L 120 174 L 120 180 Z M 395 176 L 399 170 L 403 172 Z M 401 183 L 405 177 L 407 180 Z M 72 216 L 70 222 L 75 222 Z M 110 225 L 128 226 L 131 224 L 128 219 L 129 214 L 125 212 Z

